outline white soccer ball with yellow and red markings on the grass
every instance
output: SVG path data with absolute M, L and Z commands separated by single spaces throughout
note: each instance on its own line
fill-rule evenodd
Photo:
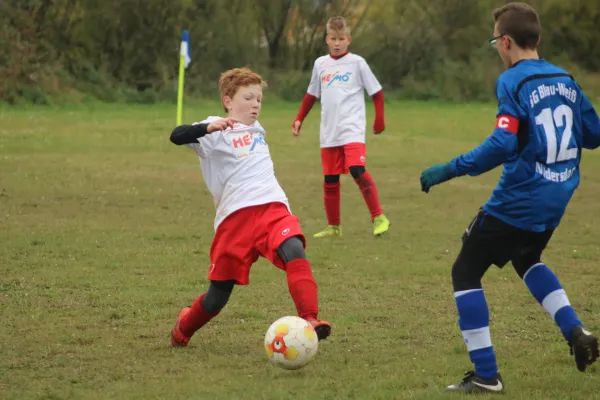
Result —
M 317 354 L 319 339 L 312 325 L 300 317 L 283 317 L 265 334 L 269 360 L 283 369 L 300 369 Z

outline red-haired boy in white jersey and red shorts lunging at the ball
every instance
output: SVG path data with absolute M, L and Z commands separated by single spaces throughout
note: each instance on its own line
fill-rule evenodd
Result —
M 208 117 L 171 133 L 173 143 L 192 148 L 200 158 L 217 209 L 210 286 L 179 313 L 171 331 L 175 347 L 187 346 L 219 314 L 236 284 L 249 283 L 250 267 L 259 256 L 286 272 L 298 315 L 312 324 L 319 340 L 331 333 L 331 325 L 317 318 L 317 284 L 305 257 L 305 238 L 275 178 L 265 131 L 257 121 L 264 85 L 247 68 L 224 72 L 219 90 L 228 117 Z

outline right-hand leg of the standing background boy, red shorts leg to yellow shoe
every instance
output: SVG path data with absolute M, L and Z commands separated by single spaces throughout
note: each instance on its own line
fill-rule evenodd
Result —
M 349 143 L 344 146 L 345 163 L 360 189 L 363 199 L 371 213 L 373 222 L 373 235 L 380 236 L 390 228 L 390 221 L 381 211 L 379 193 L 375 181 L 366 170 L 366 149 L 364 143 Z

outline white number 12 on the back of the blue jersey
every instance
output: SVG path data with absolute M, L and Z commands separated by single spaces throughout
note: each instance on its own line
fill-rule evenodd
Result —
M 551 108 L 544 108 L 535 117 L 535 123 L 542 125 L 546 134 L 547 155 L 546 164 L 554 164 L 561 161 L 577 158 L 577 147 L 569 148 L 571 136 L 573 135 L 573 110 L 571 107 L 561 104 L 552 112 Z M 556 128 L 564 127 L 560 140 L 560 149 L 557 151 L 558 135 Z

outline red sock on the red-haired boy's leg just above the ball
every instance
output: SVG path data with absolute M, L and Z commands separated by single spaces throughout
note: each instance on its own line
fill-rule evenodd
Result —
M 308 260 L 298 258 L 287 263 L 285 272 L 288 288 L 300 318 L 317 319 L 319 299 L 317 283 L 312 276 Z

